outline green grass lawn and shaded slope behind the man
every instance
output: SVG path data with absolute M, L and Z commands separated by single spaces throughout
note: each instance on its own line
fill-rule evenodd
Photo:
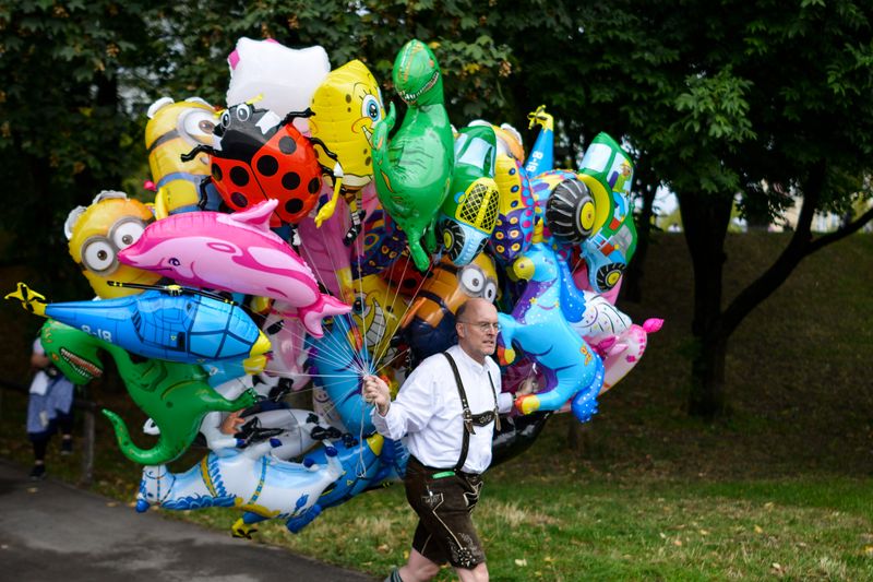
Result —
M 786 241 L 731 236 L 725 296 Z M 657 238 L 644 302 L 620 304 L 637 322 L 666 319 L 642 363 L 601 396 L 591 423 L 553 417 L 530 450 L 489 472 L 476 518 L 491 578 L 873 580 L 871 257 L 873 237 L 854 236 L 804 261 L 732 337 L 731 415 L 704 424 L 684 414 L 687 250 L 681 235 Z M 13 307 L 21 311 L 9 304 L 4 321 L 36 329 Z M 25 373 L 29 342 L 10 335 L 4 365 L 13 380 Z M 122 392 L 98 384 L 92 394 L 123 411 L 130 426 L 141 424 Z M 23 407 L 23 395 L 3 394 L 0 456 L 26 465 Z M 108 423 L 98 418 L 97 429 L 92 488 L 130 503 L 139 467 L 113 448 Z M 171 467 L 188 468 L 202 454 L 192 450 Z M 49 471 L 74 482 L 76 461 L 52 449 Z M 238 516 L 164 514 L 219 530 Z M 414 527 L 403 487 L 392 486 L 326 510 L 298 535 L 270 523 L 255 538 L 384 575 L 405 560 Z M 440 580 L 452 578 L 446 570 Z

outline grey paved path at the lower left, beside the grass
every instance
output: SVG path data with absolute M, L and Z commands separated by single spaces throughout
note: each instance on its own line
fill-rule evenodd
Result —
M 0 580 L 372 582 L 285 549 L 137 514 L 0 460 Z

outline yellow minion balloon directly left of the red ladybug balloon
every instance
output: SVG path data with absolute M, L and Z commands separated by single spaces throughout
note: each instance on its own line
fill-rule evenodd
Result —
M 215 110 L 200 97 L 174 102 L 163 97 L 148 107 L 145 147 L 157 188 L 158 218 L 200 210 L 200 183 L 210 174 L 210 156 L 201 153 L 190 162 L 181 155 L 199 144 L 213 144 Z

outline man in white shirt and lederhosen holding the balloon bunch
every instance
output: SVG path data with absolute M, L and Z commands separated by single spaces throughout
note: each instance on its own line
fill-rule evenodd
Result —
M 384 380 L 363 379 L 376 430 L 395 440 L 409 436 L 404 484 L 419 518 L 408 562 L 386 582 L 430 580 L 446 561 L 462 581 L 488 580 L 471 513 L 491 463 L 498 414 L 510 411 L 512 395 L 501 393 L 500 368 L 490 357 L 500 331 L 494 306 L 468 299 L 455 321 L 458 344 L 424 359 L 393 402 Z

